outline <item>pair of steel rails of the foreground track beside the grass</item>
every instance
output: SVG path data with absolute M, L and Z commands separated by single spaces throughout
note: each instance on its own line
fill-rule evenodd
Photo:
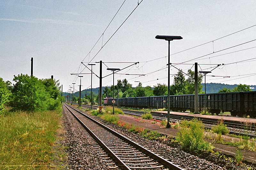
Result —
M 66 106 L 66 105 L 65 105 L 65 106 Z M 68 105 L 68 106 L 69 106 L 69 105 Z M 67 107 L 67 106 L 66 106 L 66 107 Z M 69 106 L 69 107 L 71 107 L 71 106 Z M 74 110 L 76 110 L 76 109 L 73 108 L 73 107 L 71 107 L 71 108 L 74 109 Z M 69 110 L 69 109 L 68 109 L 68 110 Z M 70 110 L 69 110 L 69 111 L 70 111 Z M 81 115 L 84 115 L 86 118 L 90 119 L 92 122 L 95 122 L 96 124 L 100 125 L 102 128 L 108 130 L 110 133 L 112 133 L 112 134 L 114 134 L 115 136 L 121 138 L 122 140 L 124 140 L 124 141 L 127 142 L 128 144 L 131 144 L 131 145 L 134 146 L 135 148 L 137 148 L 137 149 L 139 149 L 140 151 L 146 153 L 148 156 L 150 156 L 150 157 L 154 158 L 155 160 L 159 161 L 159 163 L 163 164 L 164 166 L 167 166 L 168 168 L 171 168 L 172 170 L 184 170 L 184 169 L 180 168 L 179 166 L 173 164 L 172 162 L 170 162 L 170 161 L 168 161 L 168 160 L 166 160 L 166 159 L 164 159 L 164 158 L 158 156 L 157 154 L 155 154 L 155 153 L 149 151 L 148 149 L 144 148 L 143 146 L 141 146 L 141 145 L 139 145 L 139 144 L 136 144 L 135 142 L 129 140 L 128 138 L 126 138 L 126 137 L 120 135 L 119 133 L 115 132 L 114 130 L 109 129 L 109 128 L 106 127 L 105 125 L 103 125 L 103 124 L 101 124 L 100 122 L 98 122 L 98 121 L 92 119 L 91 117 L 89 117 L 89 116 L 83 114 L 82 112 L 80 112 L 80 111 L 78 111 L 78 110 L 76 110 L 76 111 L 77 111 L 78 113 L 80 113 Z M 70 111 L 70 112 L 71 112 L 71 111 Z M 71 113 L 72 113 L 72 112 L 71 112 Z M 73 114 L 73 113 L 72 113 L 72 114 Z M 74 115 L 74 114 L 73 114 L 73 115 Z M 79 120 L 79 122 L 81 122 L 80 119 L 78 119 L 78 118 L 76 118 L 76 119 Z M 85 125 L 83 125 L 83 126 L 85 126 Z M 86 126 L 85 126 L 85 127 L 86 127 Z M 86 129 L 88 129 L 88 128 L 86 127 Z M 91 130 L 90 130 L 90 131 L 91 131 Z M 92 134 L 94 135 L 94 133 L 93 133 L 92 131 L 91 131 L 90 133 L 92 133 Z M 96 140 L 101 142 L 101 140 L 100 140 L 98 137 L 96 138 Z M 103 146 L 105 147 L 106 145 L 103 144 Z M 106 146 L 106 147 L 107 147 L 107 146 Z M 108 148 L 108 147 L 107 147 L 107 148 Z M 111 151 L 109 148 L 108 148 L 108 150 Z M 114 152 L 111 151 L 110 153 L 111 153 L 111 155 L 112 155 L 113 157 L 114 157 L 114 156 L 116 157 L 116 154 L 115 154 Z M 119 158 L 118 158 L 118 160 L 119 160 Z M 122 161 L 122 160 L 120 159 L 120 161 Z M 122 162 L 123 162 L 123 161 L 122 161 Z M 121 162 L 120 162 L 120 163 L 121 163 Z M 122 163 L 122 164 L 123 164 L 123 163 Z M 124 166 L 124 167 L 125 167 L 125 166 Z M 128 166 L 127 166 L 127 167 L 128 167 Z M 121 168 L 122 168 L 122 167 L 121 167 Z M 128 168 L 129 168 L 129 167 L 128 167 Z M 130 168 L 132 168 L 132 167 L 130 167 Z

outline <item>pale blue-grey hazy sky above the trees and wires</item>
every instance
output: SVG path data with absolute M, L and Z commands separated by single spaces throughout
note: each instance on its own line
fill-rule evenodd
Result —
M 155 37 L 179 35 L 170 42 L 171 84 L 178 69 L 194 71 L 197 62 L 198 71 L 212 70 L 206 83 L 256 85 L 255 6 L 254 0 L 2 0 L 0 77 L 13 82 L 13 75 L 30 75 L 33 57 L 33 75 L 53 75 L 63 92 L 80 85 L 72 73 L 88 73 L 81 74 L 82 90 L 91 88 L 84 65 L 96 64 L 99 76 L 100 60 L 103 77 L 111 74 L 107 68 L 127 67 L 115 84 L 125 78 L 133 87 L 167 84 L 168 41 Z M 111 85 L 113 75 L 102 79 L 102 86 Z M 92 87 L 99 87 L 95 75 Z

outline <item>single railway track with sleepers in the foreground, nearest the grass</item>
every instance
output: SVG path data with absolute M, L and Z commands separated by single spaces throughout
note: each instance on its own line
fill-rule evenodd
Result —
M 66 104 L 65 107 L 74 115 L 84 129 L 86 129 L 86 133 L 90 134 L 90 136 L 86 136 L 97 147 L 97 150 L 106 157 L 105 159 L 111 157 L 115 160 L 116 165 L 112 165 L 111 168 L 118 166 L 125 170 L 182 170 L 179 166 L 132 142 L 73 107 Z

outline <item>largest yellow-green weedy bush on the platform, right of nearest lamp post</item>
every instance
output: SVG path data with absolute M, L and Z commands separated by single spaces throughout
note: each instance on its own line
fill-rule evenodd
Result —
M 212 152 L 213 146 L 204 140 L 203 123 L 197 119 L 182 120 L 176 137 L 183 149 L 191 152 Z

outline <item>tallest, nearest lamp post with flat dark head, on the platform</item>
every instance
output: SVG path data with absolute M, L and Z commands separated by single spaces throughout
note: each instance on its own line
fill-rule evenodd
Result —
M 180 40 L 181 36 L 169 36 L 169 35 L 156 35 L 156 39 L 161 39 L 168 41 L 168 96 L 167 96 L 167 125 L 166 127 L 170 127 L 170 41 L 172 40 Z

